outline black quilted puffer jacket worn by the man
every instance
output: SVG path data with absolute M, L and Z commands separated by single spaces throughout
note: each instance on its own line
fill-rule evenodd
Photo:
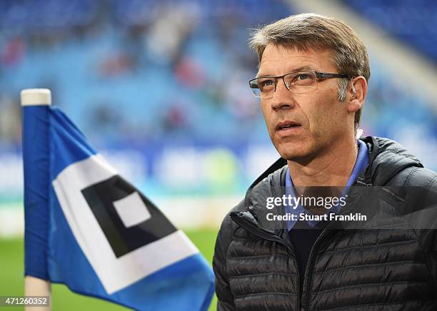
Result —
M 369 165 L 340 214 L 378 202 L 376 213 L 394 216 L 370 215 L 366 229 L 330 223 L 299 275 L 286 230 L 258 221 L 266 197 L 285 185 L 286 160 L 276 161 L 221 225 L 213 260 L 219 311 L 437 310 L 437 175 L 394 141 L 362 139 Z M 379 186 L 371 187 L 381 189 L 377 201 L 353 195 L 366 186 Z

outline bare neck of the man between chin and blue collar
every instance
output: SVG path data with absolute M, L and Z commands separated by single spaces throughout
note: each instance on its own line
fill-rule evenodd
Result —
M 358 148 L 355 139 L 339 139 L 308 163 L 288 160 L 295 187 L 345 186 L 355 165 Z

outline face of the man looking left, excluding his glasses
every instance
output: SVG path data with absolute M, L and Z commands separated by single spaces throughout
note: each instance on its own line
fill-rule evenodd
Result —
M 282 76 L 306 67 L 338 73 L 331 63 L 331 51 L 298 51 L 268 44 L 261 58 L 258 76 Z M 261 99 L 261 108 L 271 141 L 287 160 L 311 160 L 346 137 L 348 111 L 338 101 L 338 79 L 317 82 L 316 90 L 296 94 L 278 79 L 273 98 Z M 291 128 L 281 128 L 293 124 Z

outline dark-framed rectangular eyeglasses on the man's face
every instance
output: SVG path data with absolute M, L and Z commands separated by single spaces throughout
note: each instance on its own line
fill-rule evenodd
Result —
M 273 98 L 278 79 L 281 78 L 288 91 L 296 94 L 308 93 L 317 88 L 317 81 L 325 78 L 349 78 L 343 73 L 326 73 L 314 70 L 294 71 L 283 76 L 262 76 L 249 81 L 253 95 L 258 98 Z

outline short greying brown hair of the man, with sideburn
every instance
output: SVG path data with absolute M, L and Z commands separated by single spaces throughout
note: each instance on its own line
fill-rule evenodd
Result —
M 350 77 L 363 76 L 366 81 L 371 75 L 366 46 L 356 32 L 340 19 L 306 13 L 288 16 L 273 24 L 254 29 L 249 46 L 258 54 L 258 63 L 261 62 L 267 44 L 302 51 L 331 50 L 333 52 L 331 61 L 339 73 Z M 348 83 L 348 78 L 338 79 L 339 101 L 346 100 Z M 361 109 L 355 113 L 355 132 L 358 130 L 360 118 Z

